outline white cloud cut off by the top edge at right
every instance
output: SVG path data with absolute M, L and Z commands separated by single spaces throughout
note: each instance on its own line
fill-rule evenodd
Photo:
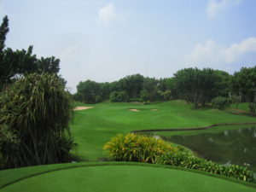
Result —
M 209 17 L 214 17 L 219 11 L 227 9 L 240 2 L 241 0 L 209 0 L 207 5 L 207 15 Z

